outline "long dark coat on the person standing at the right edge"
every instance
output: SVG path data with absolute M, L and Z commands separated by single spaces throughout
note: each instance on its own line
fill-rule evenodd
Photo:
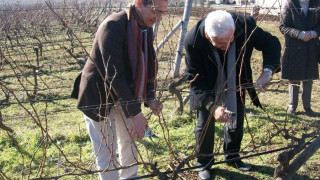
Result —
M 318 38 L 304 42 L 298 39 L 301 31 L 320 34 L 319 0 L 310 0 L 307 16 L 299 0 L 289 0 L 280 19 L 280 31 L 285 36 L 282 57 L 282 78 L 289 80 L 313 80 L 319 78 Z

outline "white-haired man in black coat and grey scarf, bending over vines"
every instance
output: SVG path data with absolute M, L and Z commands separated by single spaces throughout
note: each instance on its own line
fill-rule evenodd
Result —
M 201 179 L 211 178 L 215 120 L 227 122 L 223 149 L 227 153 L 226 160 L 230 160 L 229 165 L 240 170 L 251 168 L 240 160 L 231 159 L 239 157 L 245 90 L 253 103 L 261 107 L 252 83 L 250 58 L 253 48 L 262 51 L 263 72 L 256 86 L 264 92 L 272 73 L 279 71 L 281 45 L 275 36 L 257 27 L 252 17 L 213 11 L 186 36 L 190 107 L 197 110 L 197 161 L 206 166 L 199 172 Z M 233 113 L 228 113 L 230 111 Z

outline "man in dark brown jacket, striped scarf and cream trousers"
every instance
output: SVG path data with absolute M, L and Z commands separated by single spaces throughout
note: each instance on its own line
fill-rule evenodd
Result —
M 129 9 L 108 16 L 75 83 L 74 97 L 84 113 L 102 180 L 137 176 L 134 140 L 144 136 L 148 124 L 141 104 L 156 115 L 162 108 L 155 101 L 152 26 L 162 19 L 167 6 L 167 0 L 135 0 Z

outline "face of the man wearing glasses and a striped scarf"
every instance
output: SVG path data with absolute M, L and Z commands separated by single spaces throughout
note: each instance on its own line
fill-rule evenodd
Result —
M 144 6 L 137 5 L 143 22 L 147 27 L 152 27 L 156 22 L 161 21 L 163 13 L 166 12 L 168 1 L 166 0 L 153 0 L 153 3 Z

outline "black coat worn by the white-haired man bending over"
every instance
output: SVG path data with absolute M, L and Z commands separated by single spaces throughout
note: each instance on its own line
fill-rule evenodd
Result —
M 262 51 L 263 67 L 268 67 L 276 71 L 280 66 L 281 45 L 275 36 L 263 31 L 259 27 L 256 28 L 256 23 L 252 17 L 244 17 L 234 13 L 231 13 L 231 15 L 236 21 L 236 30 L 234 33 L 236 59 L 240 59 L 237 61 L 236 77 L 239 77 L 240 67 L 242 67 L 241 79 L 238 78 L 237 85 L 239 87 L 239 82 L 241 82 L 243 86 L 252 87 L 250 58 L 253 48 Z M 190 81 L 193 80 L 190 86 L 191 110 L 198 109 L 202 105 L 205 105 L 203 104 L 204 100 L 208 98 L 214 100 L 215 98 L 213 90 L 218 78 L 216 59 L 213 54 L 213 48 L 215 47 L 205 38 L 204 26 L 205 18 L 201 19 L 197 25 L 190 30 L 185 39 L 186 78 Z M 242 49 L 244 42 L 248 39 L 254 28 L 256 28 L 254 33 L 245 48 Z M 243 65 L 241 65 L 242 62 Z M 195 78 L 197 74 L 198 76 Z M 251 99 L 256 98 L 256 92 L 253 87 L 247 90 L 249 91 Z M 254 104 L 261 106 L 257 98 Z

